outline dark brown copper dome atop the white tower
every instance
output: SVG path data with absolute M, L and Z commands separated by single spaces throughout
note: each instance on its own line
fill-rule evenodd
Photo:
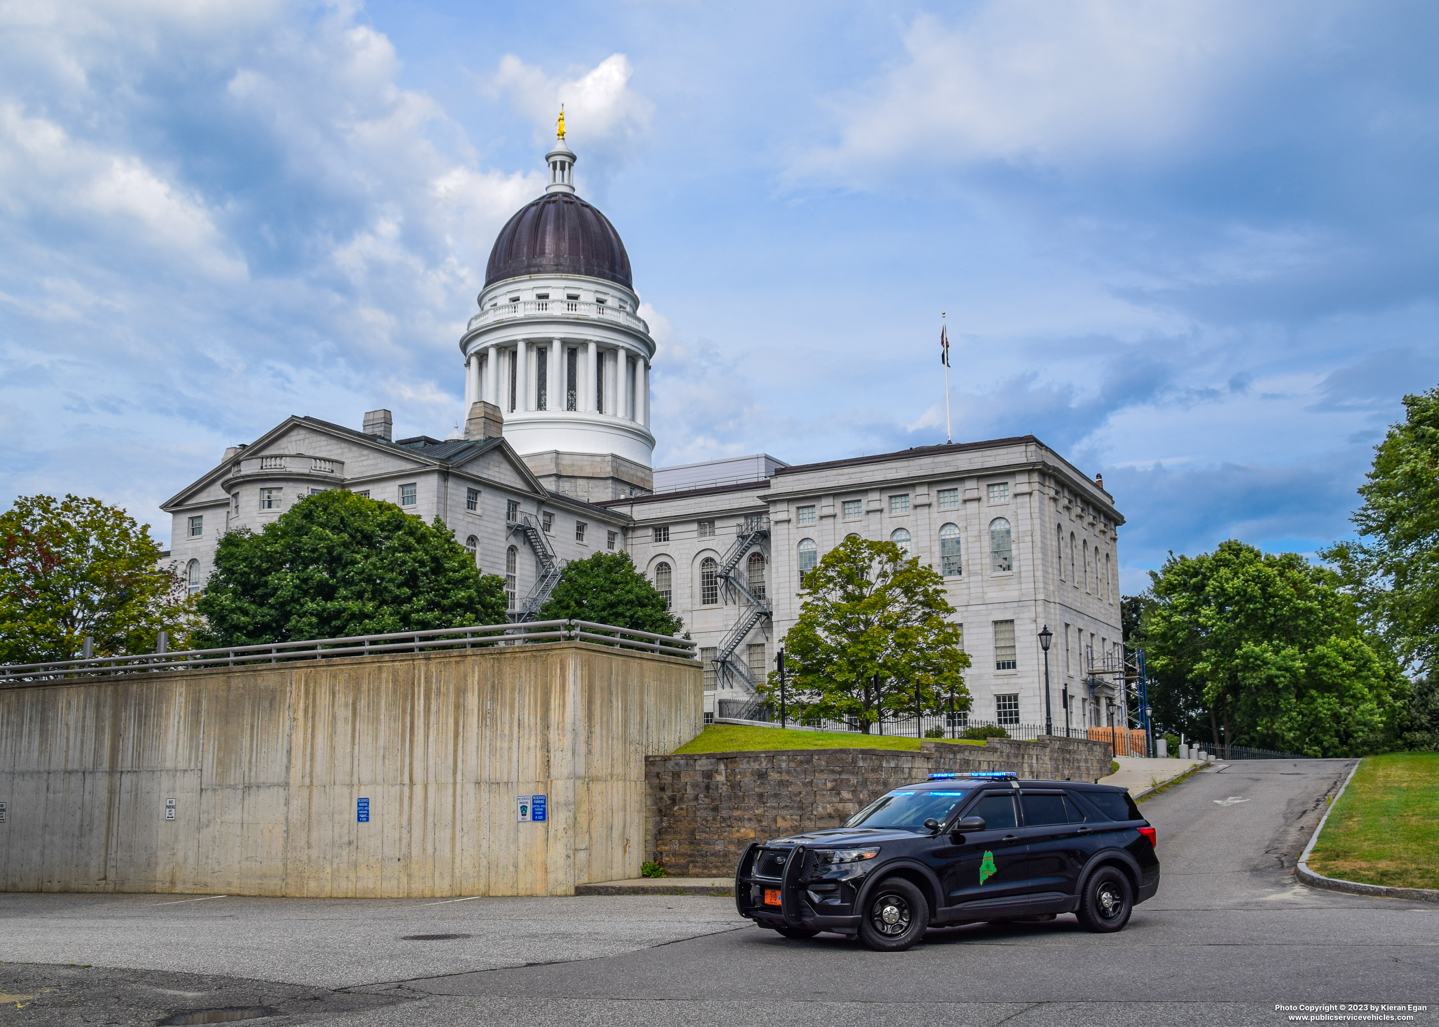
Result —
M 589 275 L 633 288 L 610 219 L 573 193 L 545 193 L 509 219 L 485 266 L 485 288 L 522 275 Z

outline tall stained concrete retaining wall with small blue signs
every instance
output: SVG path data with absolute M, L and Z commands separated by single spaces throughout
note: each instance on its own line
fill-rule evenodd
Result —
M 636 877 L 645 757 L 699 734 L 701 673 L 554 643 L 0 689 L 0 890 L 570 895 Z M 530 794 L 545 823 L 518 823 Z

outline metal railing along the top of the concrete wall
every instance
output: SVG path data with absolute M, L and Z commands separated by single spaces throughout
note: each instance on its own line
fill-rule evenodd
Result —
M 0 686 L 72 677 L 112 677 L 117 675 L 157 673 L 163 670 L 196 670 L 216 666 L 236 667 L 248 663 L 330 660 L 347 656 L 377 656 L 380 653 L 519 646 L 537 642 L 596 642 L 606 646 L 659 653 L 661 656 L 678 656 L 681 659 L 695 659 L 696 654 L 696 643 L 689 639 L 599 624 L 590 620 L 538 620 L 522 624 L 476 624 L 473 627 L 439 627 L 425 631 L 354 634 L 344 639 L 265 642 L 223 649 L 190 649 L 138 656 L 96 656 L 88 660 L 58 660 L 53 663 L 17 663 L 0 666 Z

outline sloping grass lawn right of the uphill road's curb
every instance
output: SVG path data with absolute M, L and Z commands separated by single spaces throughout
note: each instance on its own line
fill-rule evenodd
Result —
M 1366 885 L 1439 887 L 1439 752 L 1366 757 L 1309 866 Z

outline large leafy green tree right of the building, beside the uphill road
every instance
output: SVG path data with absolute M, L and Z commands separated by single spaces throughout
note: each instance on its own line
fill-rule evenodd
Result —
M 1384 747 L 1407 689 L 1337 574 L 1230 539 L 1170 555 L 1151 577 L 1150 665 L 1203 703 L 1216 745 L 1314 757 Z

